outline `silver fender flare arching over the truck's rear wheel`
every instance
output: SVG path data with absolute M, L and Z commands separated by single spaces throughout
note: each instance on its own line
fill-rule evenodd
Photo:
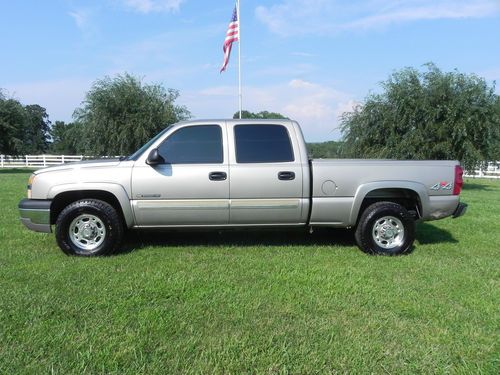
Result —
M 353 226 L 356 224 L 359 210 L 363 204 L 365 197 L 374 190 L 379 189 L 406 189 L 412 190 L 420 198 L 420 203 L 422 204 L 422 216 L 426 217 L 429 211 L 429 194 L 427 193 L 427 188 L 425 185 L 414 182 L 414 181 L 375 181 L 362 184 L 356 190 L 354 195 L 354 203 L 351 208 L 351 214 L 349 216 L 349 225 Z

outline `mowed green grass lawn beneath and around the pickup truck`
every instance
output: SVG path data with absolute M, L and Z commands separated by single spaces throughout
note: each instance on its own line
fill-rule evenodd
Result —
M 352 233 L 130 234 L 67 257 L 0 171 L 0 373 L 500 373 L 500 181 L 373 257 Z

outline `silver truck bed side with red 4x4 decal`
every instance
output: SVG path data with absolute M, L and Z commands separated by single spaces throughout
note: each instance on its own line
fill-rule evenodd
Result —
M 417 193 L 419 217 L 451 215 L 459 203 L 453 195 L 451 160 L 311 160 L 313 225 L 353 226 L 365 199 L 405 199 Z

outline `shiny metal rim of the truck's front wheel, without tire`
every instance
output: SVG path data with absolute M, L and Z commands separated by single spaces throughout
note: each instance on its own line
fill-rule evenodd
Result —
M 106 227 L 95 215 L 77 216 L 69 226 L 69 239 L 87 253 L 93 253 L 104 242 Z

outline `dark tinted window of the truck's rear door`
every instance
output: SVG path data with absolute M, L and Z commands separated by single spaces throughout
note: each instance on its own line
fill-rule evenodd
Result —
M 282 125 L 236 125 L 234 137 L 238 163 L 294 161 L 290 136 Z

